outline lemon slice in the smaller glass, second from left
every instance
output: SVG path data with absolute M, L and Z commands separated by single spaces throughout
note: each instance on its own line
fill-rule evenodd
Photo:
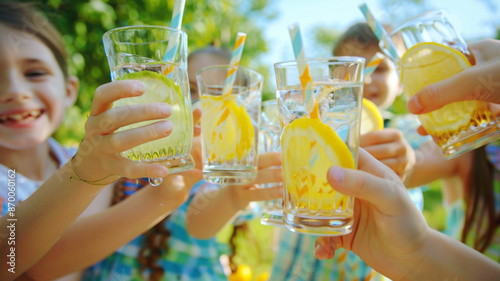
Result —
M 202 138 L 210 162 L 241 161 L 252 151 L 253 124 L 236 96 L 202 96 L 201 109 Z

